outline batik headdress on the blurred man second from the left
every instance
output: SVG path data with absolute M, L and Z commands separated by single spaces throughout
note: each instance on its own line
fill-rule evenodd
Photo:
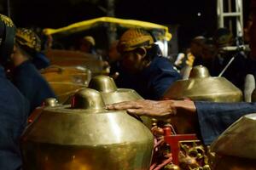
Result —
M 15 42 L 21 47 L 30 48 L 36 52 L 41 50 L 41 40 L 38 35 L 26 28 L 18 28 L 16 31 Z

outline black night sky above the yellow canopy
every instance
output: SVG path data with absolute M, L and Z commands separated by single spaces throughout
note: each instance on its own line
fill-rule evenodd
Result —
M 1 0 L 3 14 L 7 3 Z M 217 0 L 115 0 L 117 18 L 177 26 L 179 48 L 189 46 L 192 37 L 210 37 L 217 28 Z M 249 0 L 243 0 L 247 20 Z M 107 0 L 10 0 L 16 26 L 59 28 L 81 20 L 107 15 Z M 198 13 L 201 16 L 198 16 Z

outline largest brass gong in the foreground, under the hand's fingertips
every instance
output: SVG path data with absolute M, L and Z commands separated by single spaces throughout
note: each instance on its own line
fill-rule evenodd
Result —
M 99 108 L 100 96 L 84 89 L 74 97 L 88 104 L 84 109 L 45 107 L 22 135 L 24 169 L 148 170 L 152 133 L 125 111 Z

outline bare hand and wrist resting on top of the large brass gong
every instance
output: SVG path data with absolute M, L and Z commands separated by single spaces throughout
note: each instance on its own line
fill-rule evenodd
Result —
M 198 123 L 195 103 L 189 100 L 125 101 L 107 105 L 108 110 L 126 110 L 138 116 L 150 116 L 158 120 L 170 120 L 177 133 L 195 133 Z

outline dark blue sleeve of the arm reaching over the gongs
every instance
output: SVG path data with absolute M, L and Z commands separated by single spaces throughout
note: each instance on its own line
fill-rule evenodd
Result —
M 201 137 L 211 144 L 224 130 L 241 116 L 256 111 L 256 103 L 195 102 Z

